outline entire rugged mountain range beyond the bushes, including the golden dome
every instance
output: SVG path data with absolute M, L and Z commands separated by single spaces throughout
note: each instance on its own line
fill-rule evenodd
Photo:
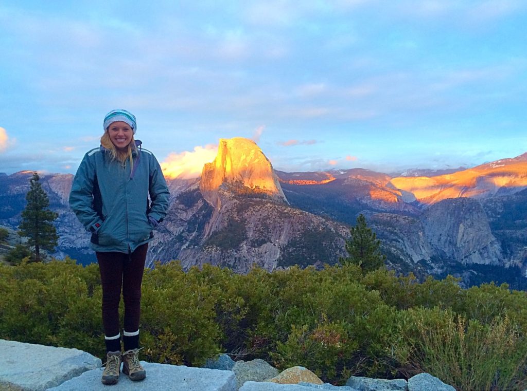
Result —
M 275 171 L 254 142 L 222 139 L 200 178 L 168 180 L 170 210 L 148 263 L 179 259 L 185 268 L 211 263 L 240 273 L 252 264 L 334 264 L 362 213 L 382 240 L 388 266 L 399 272 L 527 286 L 527 154 L 455 172 L 405 174 Z M 31 175 L 0 175 L 1 225 L 19 224 Z M 60 214 L 56 255 L 93 262 L 89 235 L 67 206 L 72 178 L 41 180 Z

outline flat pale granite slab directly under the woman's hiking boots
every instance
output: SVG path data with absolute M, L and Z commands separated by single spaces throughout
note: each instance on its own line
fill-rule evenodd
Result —
M 190 368 L 167 364 L 141 362 L 147 371 L 147 378 L 132 382 L 121 373 L 119 382 L 105 386 L 101 383 L 102 371 L 99 369 L 84 372 L 48 391 L 236 391 L 236 377 L 228 370 Z

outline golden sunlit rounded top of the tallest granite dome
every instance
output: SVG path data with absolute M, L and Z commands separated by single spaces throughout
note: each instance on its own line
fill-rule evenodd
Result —
M 213 206 L 218 206 L 220 188 L 287 202 L 269 159 L 255 142 L 243 137 L 221 138 L 216 158 L 203 166 L 200 191 Z

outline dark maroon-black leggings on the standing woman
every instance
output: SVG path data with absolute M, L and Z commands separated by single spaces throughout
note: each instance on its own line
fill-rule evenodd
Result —
M 135 249 L 133 253 L 96 252 L 102 281 L 102 323 L 104 334 L 112 337 L 120 333 L 119 301 L 121 287 L 124 302 L 124 331 L 133 333 L 139 330 L 141 315 L 141 282 L 148 243 Z

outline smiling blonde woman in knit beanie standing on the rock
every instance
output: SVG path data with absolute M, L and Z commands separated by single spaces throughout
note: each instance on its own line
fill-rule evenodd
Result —
M 141 281 L 152 229 L 167 214 L 169 191 L 154 155 L 134 140 L 137 125 L 131 113 L 111 111 L 103 127 L 101 146 L 84 155 L 75 174 L 70 206 L 92 234 L 103 295 L 106 366 L 102 382 L 115 384 L 121 361 L 130 379 L 146 377 L 138 358 Z M 121 288 L 124 353 L 119 325 Z

